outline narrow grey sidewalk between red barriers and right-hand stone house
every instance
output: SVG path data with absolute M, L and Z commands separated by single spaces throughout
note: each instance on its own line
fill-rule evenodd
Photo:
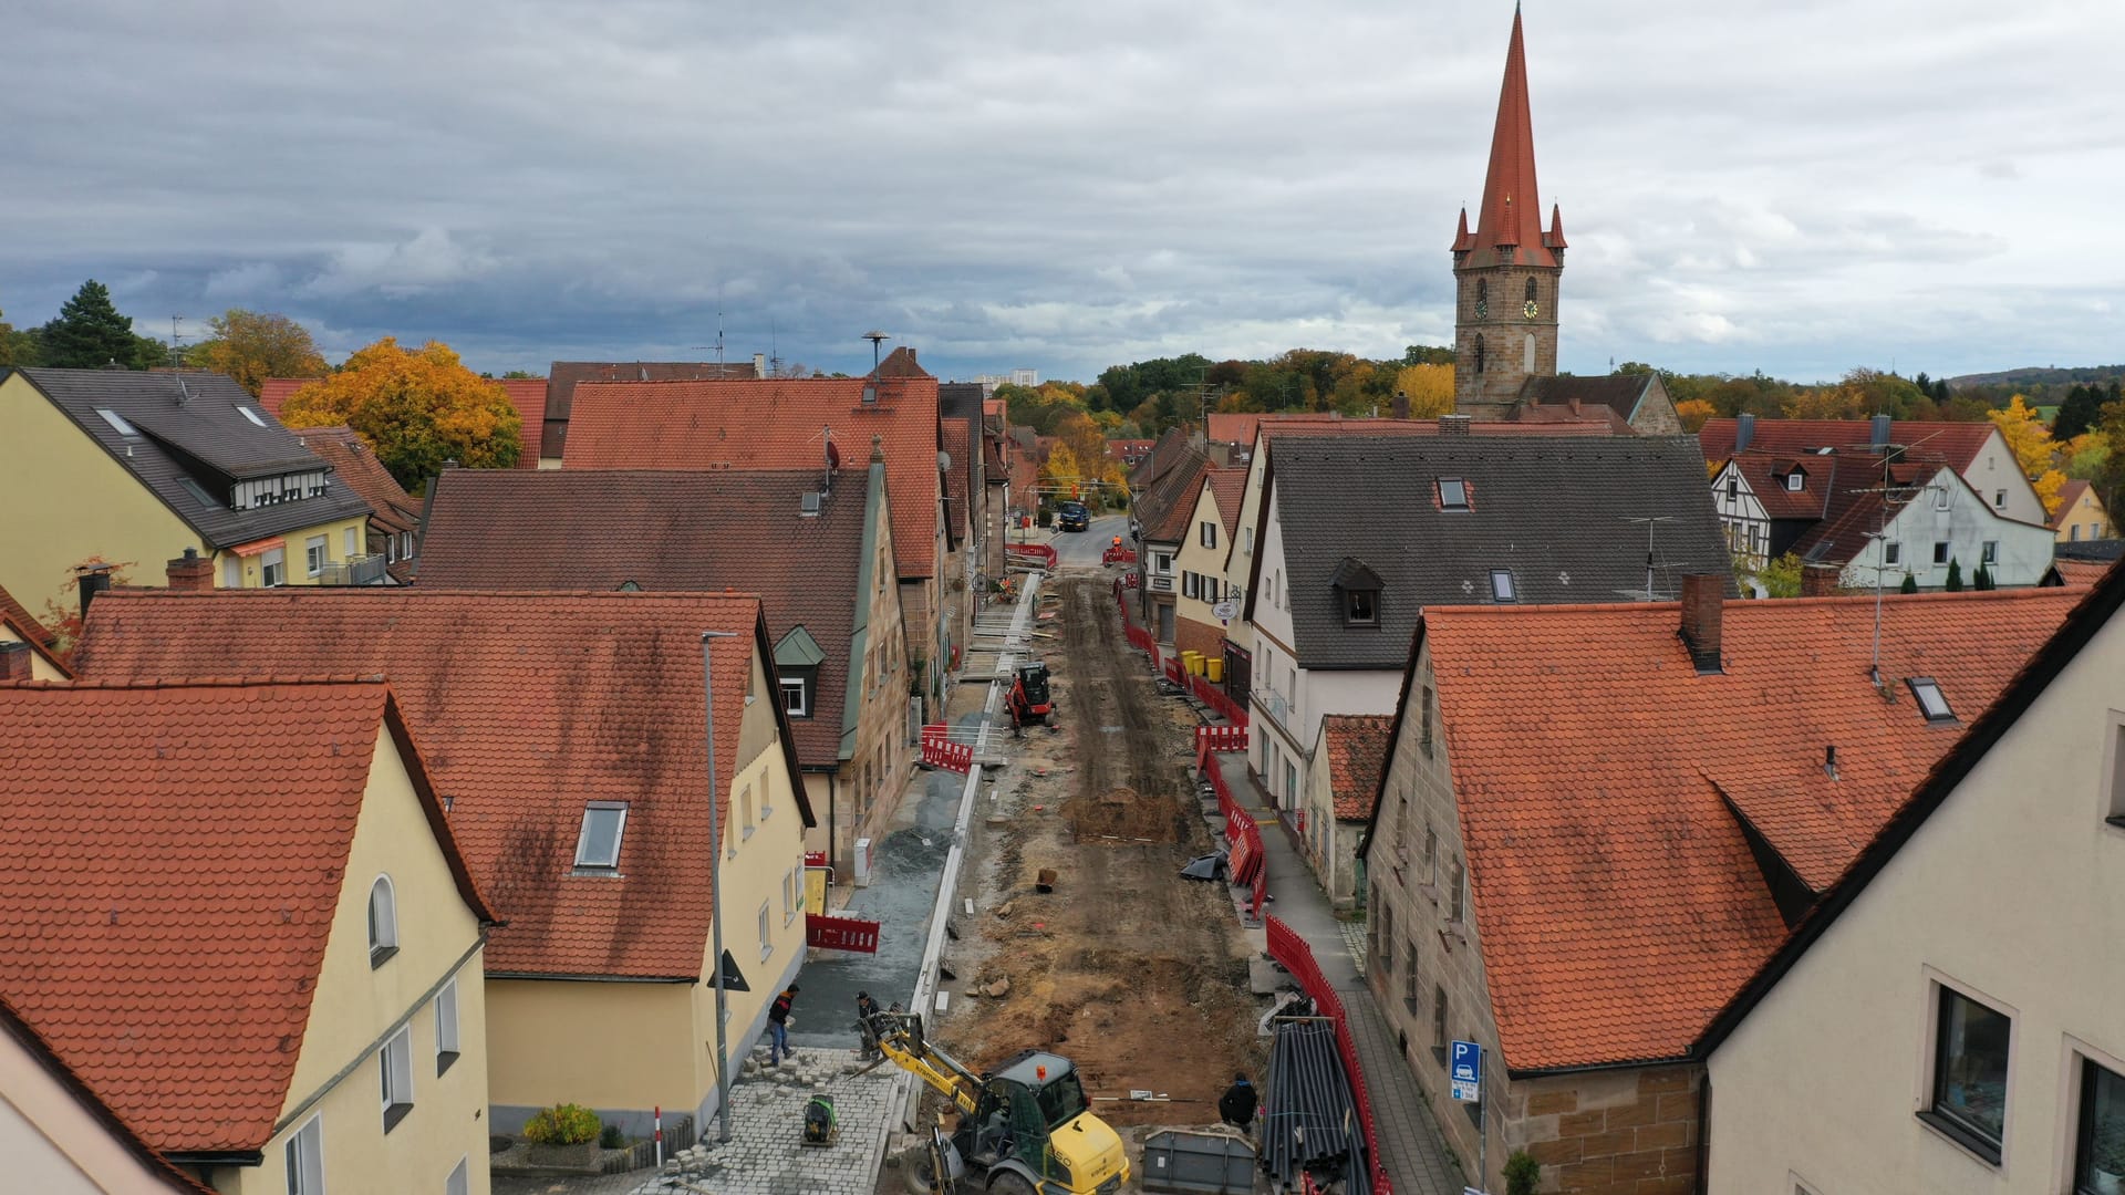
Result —
M 1271 825 L 1277 821 L 1275 806 L 1247 774 L 1247 757 L 1235 751 L 1211 755 L 1211 761 L 1224 774 L 1226 787 L 1232 789 L 1232 800 L 1241 802 L 1264 825 L 1262 853 L 1269 865 L 1271 899 L 1266 912 L 1275 912 L 1277 921 L 1305 938 L 1328 987 L 1343 999 L 1343 1012 L 1349 1016 L 1349 1031 L 1364 1067 L 1364 1087 L 1373 1097 L 1381 1163 L 1394 1182 L 1394 1195 L 1460 1195 L 1460 1165 L 1441 1144 L 1432 1110 L 1417 1093 L 1417 1080 L 1409 1074 L 1394 1031 L 1388 1029 L 1388 1019 L 1381 1016 L 1379 1002 L 1352 957 L 1349 938 L 1328 904 L 1328 893 L 1313 882 L 1313 872 L 1292 848 L 1290 838 Z

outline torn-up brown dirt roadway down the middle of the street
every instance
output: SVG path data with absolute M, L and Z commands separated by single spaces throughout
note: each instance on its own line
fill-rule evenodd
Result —
M 1111 576 L 1050 585 L 1062 731 L 1031 731 L 1020 778 L 984 810 L 978 912 L 950 955 L 960 991 L 1009 989 L 954 1002 L 939 1031 L 982 1070 L 1024 1048 L 1073 1059 L 1088 1095 L 1124 1097 L 1094 1104 L 1118 1127 L 1216 1121 L 1232 1072 L 1260 1076 L 1262 1055 L 1232 906 L 1177 876 L 1211 848 L 1186 774 L 1194 717 L 1122 638 Z M 1046 895 L 1043 868 L 1058 874 Z

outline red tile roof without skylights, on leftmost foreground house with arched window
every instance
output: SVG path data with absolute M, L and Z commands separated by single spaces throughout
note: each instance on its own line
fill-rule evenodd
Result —
M 395 719 L 376 683 L 0 685 L 0 993 L 149 1146 L 272 1138 Z M 230 782 L 261 759 L 270 800 Z

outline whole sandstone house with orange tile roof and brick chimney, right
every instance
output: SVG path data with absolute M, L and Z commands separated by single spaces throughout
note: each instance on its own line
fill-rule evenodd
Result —
M 1466 1172 L 1445 1053 L 1490 1055 L 1492 1191 L 1513 1150 L 1543 1191 L 1698 1189 L 1706 1027 L 2080 600 L 1887 598 L 1874 649 L 1872 598 L 1726 576 L 1417 627 L 1358 851 L 1366 980 Z

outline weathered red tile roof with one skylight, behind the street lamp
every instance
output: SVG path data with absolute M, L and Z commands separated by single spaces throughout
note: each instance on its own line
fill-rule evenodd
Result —
M 714 655 L 727 780 L 765 651 L 752 595 L 115 589 L 89 608 L 79 663 L 96 680 L 389 676 L 453 797 L 472 874 L 508 919 L 487 946 L 491 974 L 695 978 L 716 855 L 701 757 L 710 629 L 737 636 Z M 570 874 L 597 800 L 629 802 L 618 878 Z M 729 806 L 727 785 L 716 802 Z M 797 802 L 810 823 L 801 789 Z

